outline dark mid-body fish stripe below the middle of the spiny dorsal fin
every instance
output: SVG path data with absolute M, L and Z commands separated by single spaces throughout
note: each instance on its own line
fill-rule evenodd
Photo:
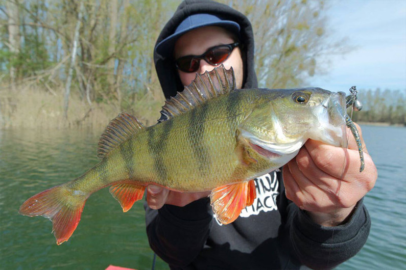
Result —
M 204 147 L 203 134 L 204 123 L 206 122 L 208 111 L 208 102 L 203 103 L 199 108 L 195 108 L 190 113 L 189 128 L 187 129 L 187 138 L 192 147 L 193 153 L 197 158 L 199 170 L 202 172 L 204 168 L 209 166 L 209 155 Z

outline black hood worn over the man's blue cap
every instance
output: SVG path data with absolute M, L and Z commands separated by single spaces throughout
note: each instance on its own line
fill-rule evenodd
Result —
M 175 11 L 172 18 L 163 27 L 156 43 L 169 37 L 186 17 L 196 13 L 209 13 L 221 16 L 230 21 L 235 21 L 240 25 L 241 39 L 243 44 L 244 78 L 243 88 L 257 88 L 258 83 L 254 69 L 254 35 L 252 26 L 248 18 L 232 9 L 231 7 L 209 0 L 185 0 Z M 177 92 L 183 90 L 178 72 L 172 59 L 162 58 L 154 47 L 154 63 L 165 98 L 175 96 Z

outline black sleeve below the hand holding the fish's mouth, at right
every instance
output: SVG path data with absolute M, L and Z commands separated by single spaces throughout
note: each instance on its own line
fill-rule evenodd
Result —
M 363 200 L 359 201 L 347 223 L 324 227 L 314 223 L 294 203 L 288 205 L 290 241 L 298 259 L 304 265 L 333 268 L 361 250 L 367 241 L 371 219 Z

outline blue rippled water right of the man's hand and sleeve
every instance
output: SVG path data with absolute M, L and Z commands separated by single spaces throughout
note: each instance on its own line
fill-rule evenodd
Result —
M 406 128 L 362 126 L 378 169 L 364 203 L 371 232 L 364 248 L 338 269 L 406 269 Z

